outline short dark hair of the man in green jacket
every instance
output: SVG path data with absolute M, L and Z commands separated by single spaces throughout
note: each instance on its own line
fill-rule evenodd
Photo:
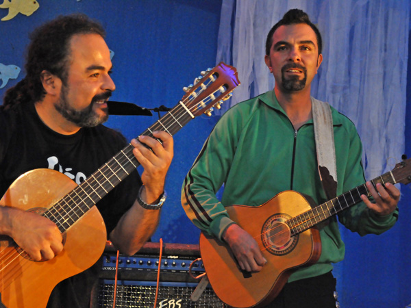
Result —
M 319 55 L 320 55 L 321 52 L 323 51 L 323 39 L 321 38 L 320 31 L 316 27 L 316 25 L 314 25 L 314 23 L 310 21 L 310 17 L 308 17 L 308 14 L 299 9 L 292 9 L 286 12 L 282 20 L 280 20 L 278 23 L 276 23 L 271 28 L 271 30 L 269 31 L 269 35 L 267 36 L 267 40 L 266 40 L 266 55 L 270 55 L 271 45 L 273 44 L 273 34 L 279 26 L 296 25 L 299 23 L 305 23 L 306 25 L 309 25 L 311 29 L 314 31 L 316 35 L 316 39 L 317 39 L 317 44 L 319 45 Z

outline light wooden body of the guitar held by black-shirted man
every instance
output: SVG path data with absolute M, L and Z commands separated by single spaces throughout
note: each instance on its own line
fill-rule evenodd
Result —
M 0 205 L 43 212 L 77 184 L 62 173 L 36 169 L 18 177 Z M 0 293 L 8 308 L 46 307 L 51 291 L 60 281 L 95 264 L 106 241 L 103 218 L 97 207 L 63 233 L 64 249 L 49 261 L 32 261 L 7 236 L 0 236 Z

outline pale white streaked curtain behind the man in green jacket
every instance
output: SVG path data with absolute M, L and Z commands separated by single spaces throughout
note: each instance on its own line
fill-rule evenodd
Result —
M 405 144 L 408 0 L 223 0 L 216 62 L 235 66 L 241 85 L 222 112 L 273 89 L 266 35 L 291 8 L 307 12 L 323 36 L 312 95 L 355 123 L 367 179 L 392 169 Z

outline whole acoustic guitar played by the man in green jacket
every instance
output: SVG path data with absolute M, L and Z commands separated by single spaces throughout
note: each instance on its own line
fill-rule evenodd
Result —
M 410 183 L 411 158 L 371 182 Z M 226 207 L 229 217 L 257 241 L 267 263 L 260 272 L 242 271 L 227 244 L 201 233 L 201 258 L 215 294 L 230 307 L 270 303 L 292 272 L 318 261 L 321 240 L 315 226 L 362 201 L 362 194 L 371 196 L 365 184 L 315 206 L 303 194 L 289 190 L 258 207 Z

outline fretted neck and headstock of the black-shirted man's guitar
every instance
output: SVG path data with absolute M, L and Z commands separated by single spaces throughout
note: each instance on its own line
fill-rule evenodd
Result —
M 203 73 L 203 77 L 197 77 L 195 86 L 186 88 L 187 92 L 182 100 L 144 131 L 142 136 L 153 137 L 154 131 L 166 131 L 173 136 L 196 116 L 210 114 L 212 107 L 219 107 L 240 84 L 236 69 L 223 62 Z M 157 140 L 162 143 L 162 140 Z M 43 215 L 55 222 L 61 232 L 69 229 L 101 198 L 136 170 L 140 164 L 134 157 L 133 149 L 132 144 L 125 146 Z

